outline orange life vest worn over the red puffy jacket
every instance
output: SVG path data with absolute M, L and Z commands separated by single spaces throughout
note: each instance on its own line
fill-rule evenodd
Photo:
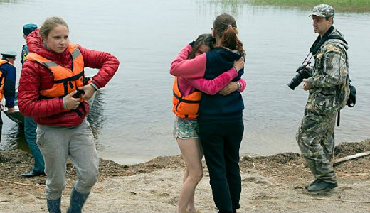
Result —
M 73 59 L 73 70 L 62 67 L 56 64 L 56 62 L 43 58 L 37 53 L 28 53 L 27 60 L 40 63 L 44 67 L 48 68 L 48 70 L 51 70 L 54 75 L 53 87 L 41 90 L 41 99 L 65 97 L 70 92 L 75 91 L 78 87 L 83 87 L 85 78 L 83 56 L 81 55 L 77 44 L 70 44 L 69 51 Z

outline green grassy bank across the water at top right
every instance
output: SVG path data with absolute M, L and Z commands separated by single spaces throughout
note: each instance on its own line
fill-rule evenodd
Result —
M 317 4 L 329 4 L 337 11 L 370 11 L 370 0 L 224 0 L 223 2 L 292 6 L 301 9 L 312 9 Z

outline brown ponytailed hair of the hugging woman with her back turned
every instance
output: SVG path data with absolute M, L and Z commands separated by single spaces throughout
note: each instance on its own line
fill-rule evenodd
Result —
M 221 40 L 223 47 L 238 50 L 245 55 L 243 43 L 238 38 L 236 21 L 233 16 L 226 13 L 217 16 L 215 21 L 213 21 L 213 28 L 215 29 L 216 38 Z

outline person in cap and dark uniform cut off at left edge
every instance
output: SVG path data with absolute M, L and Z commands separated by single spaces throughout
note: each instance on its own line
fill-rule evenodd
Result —
M 16 53 L 13 51 L 1 53 L 0 60 L 0 102 L 5 97 L 5 107 L 8 108 L 8 113 L 14 112 L 14 99 L 16 98 Z M 1 108 L 3 108 L 1 104 Z M 3 119 L 0 114 L 0 142 L 3 129 Z

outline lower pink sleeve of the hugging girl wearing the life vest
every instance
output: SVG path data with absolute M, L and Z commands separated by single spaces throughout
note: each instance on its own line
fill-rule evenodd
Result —
M 218 75 L 213 80 L 206 80 L 205 78 L 191 78 L 191 79 L 184 79 L 186 82 L 191 84 L 196 89 L 199 89 L 201 92 L 206 94 L 217 94 L 220 90 L 225 87 L 234 77 L 238 76 L 238 72 L 234 67 L 231 67 L 230 70 L 227 72 L 223 72 L 223 74 Z

